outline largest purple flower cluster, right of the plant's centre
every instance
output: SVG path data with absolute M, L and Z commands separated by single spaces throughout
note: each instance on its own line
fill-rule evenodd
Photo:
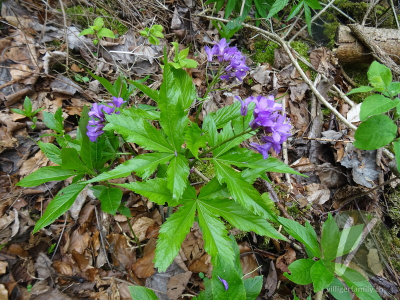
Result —
M 250 102 L 255 103 L 253 110 L 254 119 L 249 123 L 251 128 L 256 129 L 262 127 L 265 133 L 272 133 L 271 135 L 261 136 L 261 140 L 265 143 L 260 145 L 255 142 L 250 143 L 250 147 L 260 152 L 264 159 L 268 158 L 268 151 L 272 148 L 276 153 L 281 150 L 281 144 L 288 136 L 290 136 L 289 119 L 286 119 L 286 113 L 281 113 L 283 107 L 281 104 L 276 103 L 272 95 L 267 98 L 263 96 L 249 96 L 244 101 L 239 100 L 241 103 L 240 114 L 247 114 L 247 105 Z

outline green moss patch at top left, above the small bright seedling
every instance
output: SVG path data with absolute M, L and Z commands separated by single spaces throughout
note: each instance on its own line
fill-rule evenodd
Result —
M 101 16 L 104 19 L 104 27 L 116 31 L 119 35 L 124 34 L 128 30 L 125 25 L 112 17 L 103 8 L 76 5 L 65 8 L 65 13 L 71 18 L 72 22 L 79 25 L 82 30 L 88 28 L 89 25 L 93 25 L 93 20 L 97 16 Z

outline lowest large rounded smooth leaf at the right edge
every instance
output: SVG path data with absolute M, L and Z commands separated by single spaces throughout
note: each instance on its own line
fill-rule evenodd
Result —
M 355 130 L 354 147 L 362 150 L 374 150 L 391 142 L 397 133 L 397 126 L 385 114 L 372 115 Z

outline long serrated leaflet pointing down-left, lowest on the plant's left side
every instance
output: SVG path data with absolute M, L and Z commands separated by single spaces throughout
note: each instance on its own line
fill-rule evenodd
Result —
M 51 224 L 57 217 L 67 211 L 85 186 L 86 184 L 74 183 L 62 188 L 54 199 L 48 203 L 43 215 L 36 222 L 32 233 Z

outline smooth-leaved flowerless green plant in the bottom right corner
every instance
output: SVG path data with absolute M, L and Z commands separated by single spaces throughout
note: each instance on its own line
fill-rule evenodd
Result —
M 320 244 L 318 244 L 315 231 L 308 222 L 305 227 L 282 217 L 279 217 L 279 222 L 281 222 L 286 232 L 306 246 L 307 252 L 315 255 L 321 251 L 323 255 L 323 258 L 316 261 L 313 257 L 310 257 L 297 259 L 290 263 L 288 269 L 291 274 L 283 273 L 288 279 L 297 284 L 309 284 L 312 282 L 314 291 L 327 288 L 336 299 L 349 300 L 348 291 L 345 290 L 341 281 L 335 277 L 339 276 L 348 287 L 354 288 L 355 294 L 360 299 L 380 300 L 376 291 L 370 290 L 373 287 L 361 273 L 344 264 L 334 262 L 336 257 L 347 254 L 357 247 L 362 236 L 362 224 L 350 226 L 339 231 L 335 220 L 329 213 L 327 220 L 322 225 L 322 237 Z M 320 255 L 315 256 L 320 258 Z M 365 289 L 363 291 L 370 291 L 370 293 L 357 290 L 357 286 L 364 286 Z

